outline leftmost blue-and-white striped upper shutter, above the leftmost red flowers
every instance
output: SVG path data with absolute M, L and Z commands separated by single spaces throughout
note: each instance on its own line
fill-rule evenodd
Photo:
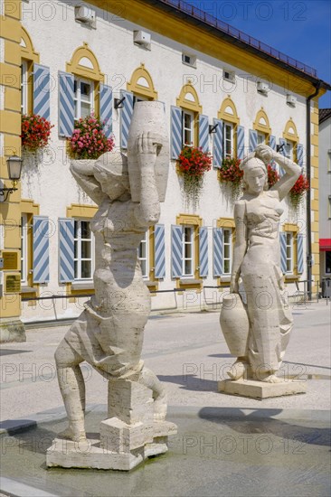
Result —
M 50 68 L 33 64 L 33 113 L 50 120 Z

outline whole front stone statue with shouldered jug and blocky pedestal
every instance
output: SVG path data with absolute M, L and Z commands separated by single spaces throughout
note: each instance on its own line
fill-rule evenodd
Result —
M 96 161 L 71 162 L 77 183 L 98 205 L 90 223 L 95 295 L 55 352 L 69 427 L 47 451 L 48 466 L 129 470 L 164 453 L 167 436 L 176 431 L 165 421 L 165 387 L 141 360 L 150 295 L 137 259 L 146 231 L 159 220 L 168 167 L 164 107 L 147 101 L 135 106 L 128 157 L 109 152 Z M 109 381 L 108 417 L 95 440 L 85 428 L 82 361 Z

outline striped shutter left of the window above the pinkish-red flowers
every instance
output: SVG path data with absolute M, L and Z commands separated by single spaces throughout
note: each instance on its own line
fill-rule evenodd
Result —
M 59 70 L 59 136 L 68 138 L 75 120 L 73 82 L 73 74 Z

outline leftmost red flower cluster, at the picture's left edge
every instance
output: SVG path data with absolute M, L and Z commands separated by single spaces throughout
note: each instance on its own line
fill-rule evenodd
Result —
M 53 125 L 38 114 L 22 116 L 22 146 L 29 152 L 36 152 L 48 145 Z

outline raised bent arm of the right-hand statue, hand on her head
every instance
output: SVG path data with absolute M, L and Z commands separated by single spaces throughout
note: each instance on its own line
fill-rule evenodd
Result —
M 288 157 L 275 152 L 268 145 L 259 145 L 255 151 L 255 154 L 265 164 L 269 164 L 271 160 L 274 160 L 283 169 L 285 169 L 285 174 L 280 178 L 279 182 L 270 188 L 270 190 L 276 190 L 279 192 L 279 200 L 285 199 L 301 174 L 300 166 L 288 159 Z

